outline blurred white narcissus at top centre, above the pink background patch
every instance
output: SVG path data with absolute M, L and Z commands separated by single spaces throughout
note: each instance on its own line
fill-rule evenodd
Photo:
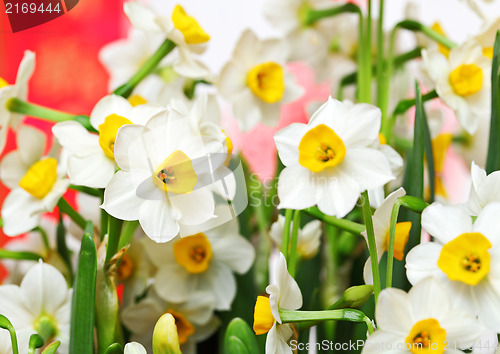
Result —
M 242 130 L 258 122 L 276 125 L 281 106 L 299 98 L 303 89 L 285 67 L 288 48 L 278 39 L 259 40 L 246 30 L 233 58 L 220 73 L 217 88 L 228 100 Z

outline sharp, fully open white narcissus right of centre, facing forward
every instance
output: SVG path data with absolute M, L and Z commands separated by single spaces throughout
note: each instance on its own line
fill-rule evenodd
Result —
M 279 208 L 317 205 L 342 218 L 361 192 L 394 179 L 386 156 L 377 149 L 380 109 L 330 98 L 308 124 L 294 123 L 275 134 L 286 168 L 278 181 Z

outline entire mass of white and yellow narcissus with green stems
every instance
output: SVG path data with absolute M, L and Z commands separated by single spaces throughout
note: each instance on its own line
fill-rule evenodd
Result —
M 126 2 L 88 115 L 28 101 L 26 51 L 0 354 L 495 353 L 500 18 L 384 33 L 391 1 L 267 0 L 282 37 L 245 30 L 219 73 L 189 9 Z

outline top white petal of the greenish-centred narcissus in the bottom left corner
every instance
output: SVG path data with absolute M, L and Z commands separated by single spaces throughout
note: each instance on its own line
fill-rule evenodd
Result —
M 54 315 L 68 299 L 68 285 L 59 271 L 46 263 L 29 270 L 21 282 L 23 302 L 31 313 Z

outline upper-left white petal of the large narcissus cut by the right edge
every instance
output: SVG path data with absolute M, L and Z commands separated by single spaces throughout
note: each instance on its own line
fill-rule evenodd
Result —
M 433 203 L 422 213 L 422 227 L 445 244 L 464 232 L 470 232 L 472 219 L 459 207 Z

